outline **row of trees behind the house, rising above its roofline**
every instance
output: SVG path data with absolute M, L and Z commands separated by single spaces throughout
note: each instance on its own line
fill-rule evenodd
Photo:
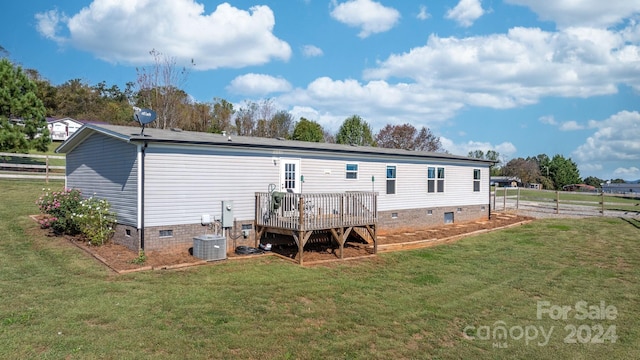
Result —
M 127 82 L 124 89 L 104 81 L 90 85 L 81 79 L 55 86 L 37 70 L 22 69 L 3 58 L 0 150 L 23 152 L 46 148 L 42 142 L 48 135 L 36 140 L 37 130 L 46 129 L 45 117 L 134 125 L 133 106 L 136 106 L 153 109 L 157 120 L 149 126 L 162 129 L 446 152 L 440 138 L 430 129 L 417 129 L 408 123 L 388 124 L 374 134 L 371 126 L 354 114 L 344 120 L 336 133 L 331 133 L 312 119 L 294 119 L 288 111 L 278 109 L 272 99 L 247 100 L 238 107 L 223 98 L 198 102 L 181 89 L 190 72 L 188 67 L 178 67 L 173 58 L 156 50 L 150 55 L 153 64 L 137 68 L 135 81 Z M 11 126 L 12 119 L 19 119 L 21 126 Z M 26 128 L 29 129 L 26 138 L 30 140 L 18 144 L 15 138 L 25 134 L 16 134 Z

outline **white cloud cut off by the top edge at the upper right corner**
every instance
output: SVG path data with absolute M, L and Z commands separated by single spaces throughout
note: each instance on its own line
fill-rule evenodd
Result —
M 506 0 L 533 10 L 541 20 L 560 27 L 609 27 L 640 12 L 640 2 L 632 0 Z

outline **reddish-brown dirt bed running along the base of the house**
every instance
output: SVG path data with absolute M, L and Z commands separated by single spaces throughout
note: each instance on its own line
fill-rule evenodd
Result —
M 34 217 L 34 220 L 38 221 L 39 219 Z M 424 229 L 398 229 L 392 232 L 379 232 L 378 245 L 379 247 L 384 247 L 385 245 L 391 244 L 411 242 L 419 243 L 431 240 L 436 244 L 438 243 L 438 239 L 455 239 L 456 236 L 463 236 L 464 234 L 474 233 L 481 230 L 501 228 L 529 220 L 533 220 L 533 218 L 504 213 L 494 214 L 492 215 L 491 220 L 487 221 L 450 224 Z M 50 230 L 42 229 L 41 231 L 45 232 L 49 236 L 51 235 Z M 143 263 L 137 263 L 136 259 L 138 259 L 139 254 L 122 245 L 108 243 L 102 246 L 91 246 L 88 245 L 87 242 L 83 241 L 82 238 L 65 238 L 78 248 L 83 249 L 91 256 L 103 262 L 109 268 L 120 273 L 145 269 L 171 269 L 206 263 L 205 261 L 192 256 L 190 254 L 189 247 L 187 246 L 162 251 L 146 252 L 145 261 Z M 292 260 L 297 257 L 296 246 L 274 246 L 273 252 Z M 373 248 L 370 244 L 347 242 L 344 246 L 343 257 L 345 259 L 357 258 L 371 254 L 373 254 Z M 230 253 L 228 256 L 229 258 L 240 257 L 233 253 Z M 249 255 L 249 257 L 251 256 L 256 255 Z M 304 249 L 305 263 L 336 260 L 339 258 L 340 250 L 337 248 L 335 242 L 310 243 L 307 244 Z

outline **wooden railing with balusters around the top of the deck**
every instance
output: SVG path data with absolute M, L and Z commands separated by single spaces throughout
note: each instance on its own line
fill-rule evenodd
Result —
M 375 224 L 378 194 L 256 193 L 256 225 L 296 231 Z

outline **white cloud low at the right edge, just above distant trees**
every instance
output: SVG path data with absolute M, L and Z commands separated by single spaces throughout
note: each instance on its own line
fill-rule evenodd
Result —
M 598 130 L 573 155 L 579 162 L 640 160 L 640 113 L 621 111 L 603 121 L 591 121 Z

